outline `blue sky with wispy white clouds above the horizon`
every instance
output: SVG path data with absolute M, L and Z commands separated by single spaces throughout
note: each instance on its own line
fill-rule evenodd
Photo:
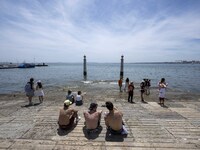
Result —
M 200 60 L 200 0 L 0 0 L 0 62 Z

